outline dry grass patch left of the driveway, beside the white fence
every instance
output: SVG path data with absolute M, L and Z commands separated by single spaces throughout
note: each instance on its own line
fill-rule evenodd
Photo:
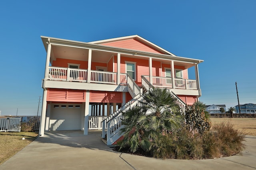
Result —
M 35 132 L 0 132 L 0 164 L 34 141 L 36 136 Z

